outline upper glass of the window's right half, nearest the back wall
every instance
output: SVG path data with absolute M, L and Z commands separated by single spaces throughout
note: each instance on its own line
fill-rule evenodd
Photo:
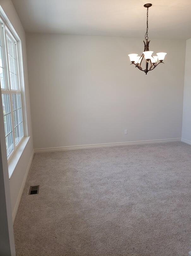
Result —
M 8 49 L 8 61 L 9 61 L 9 74 L 10 74 L 10 87 L 12 90 L 19 90 L 18 74 L 16 69 L 16 50 L 17 46 L 15 42 L 6 35 L 7 49 Z

